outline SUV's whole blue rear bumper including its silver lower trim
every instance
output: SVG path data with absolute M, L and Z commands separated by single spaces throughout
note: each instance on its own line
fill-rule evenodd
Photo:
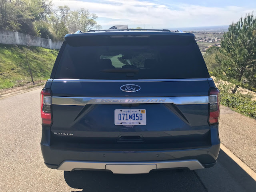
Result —
M 218 125 L 211 126 L 212 145 L 206 148 L 147 151 L 86 151 L 50 146 L 50 128 L 43 128 L 41 150 L 46 166 L 58 170 L 111 170 L 114 173 L 145 173 L 153 169 L 208 168 L 216 163 L 220 140 Z

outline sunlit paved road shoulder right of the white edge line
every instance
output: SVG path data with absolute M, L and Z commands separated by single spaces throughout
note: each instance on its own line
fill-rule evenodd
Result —
M 224 106 L 220 112 L 221 142 L 256 172 L 256 120 Z

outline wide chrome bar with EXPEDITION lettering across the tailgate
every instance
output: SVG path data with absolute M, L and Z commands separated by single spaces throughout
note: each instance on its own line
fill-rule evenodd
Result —
M 134 104 L 134 103 L 173 103 L 176 105 L 208 104 L 209 96 L 182 97 L 52 97 L 54 105 L 82 105 L 87 104 Z

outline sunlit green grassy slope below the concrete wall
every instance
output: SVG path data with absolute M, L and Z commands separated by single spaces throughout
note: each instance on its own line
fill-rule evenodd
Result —
M 31 81 L 25 50 L 26 46 L 0 44 L 0 90 Z M 50 77 L 57 54 L 58 50 L 30 47 L 28 62 L 34 81 Z

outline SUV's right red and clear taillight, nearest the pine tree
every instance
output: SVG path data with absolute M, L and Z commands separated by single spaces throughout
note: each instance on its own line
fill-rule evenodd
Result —
M 210 90 L 209 105 L 209 123 L 217 124 L 220 118 L 220 91 L 217 88 Z

